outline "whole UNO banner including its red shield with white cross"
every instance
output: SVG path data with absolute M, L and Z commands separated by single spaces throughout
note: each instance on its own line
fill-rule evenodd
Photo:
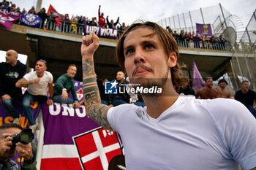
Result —
M 108 166 L 111 158 L 121 154 L 121 144 L 118 142 L 119 140 L 113 139 L 117 138 L 115 137 L 116 133 L 100 128 L 94 120 L 91 120 L 86 115 L 86 109 L 83 105 L 75 109 L 72 107 L 72 104 L 54 103 L 49 107 L 47 104 L 42 104 L 42 119 L 45 126 L 45 139 L 42 147 L 41 170 L 84 169 L 86 166 L 97 169 L 99 161 L 102 161 L 102 165 Z M 84 134 L 93 133 L 92 130 L 95 128 L 100 128 L 99 132 L 94 131 L 94 134 L 97 133 L 102 136 L 100 142 L 104 143 L 104 140 L 111 139 L 112 142 L 110 142 L 110 145 L 114 148 L 110 151 L 110 155 L 102 152 L 102 150 L 94 150 L 93 152 L 96 156 L 91 158 L 94 160 L 93 163 L 91 163 L 91 159 L 87 157 L 87 161 L 81 161 L 81 157 L 85 155 L 80 155 L 78 152 L 85 152 L 83 149 L 86 147 L 84 147 L 83 144 L 88 146 L 99 144 L 99 140 L 94 140 L 89 136 L 83 137 Z M 82 136 L 76 140 L 77 146 L 74 144 L 72 136 Z M 110 138 L 110 136 L 113 136 L 113 138 Z M 86 152 L 88 152 L 88 150 Z M 107 159 L 101 159 L 102 156 L 106 157 L 106 155 L 108 155 Z

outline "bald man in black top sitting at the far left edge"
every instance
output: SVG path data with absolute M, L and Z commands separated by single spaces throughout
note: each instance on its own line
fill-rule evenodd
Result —
M 15 50 L 8 50 L 5 58 L 6 62 L 0 63 L 0 97 L 7 112 L 18 123 L 19 114 L 12 103 L 22 99 L 21 88 L 16 88 L 15 83 L 26 74 L 26 65 L 18 61 Z

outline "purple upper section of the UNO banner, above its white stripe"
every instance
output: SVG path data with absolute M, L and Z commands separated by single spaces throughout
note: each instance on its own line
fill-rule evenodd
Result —
M 74 109 L 72 104 L 42 104 L 45 127 L 44 144 L 74 144 L 72 136 L 99 127 L 86 115 L 86 108 Z

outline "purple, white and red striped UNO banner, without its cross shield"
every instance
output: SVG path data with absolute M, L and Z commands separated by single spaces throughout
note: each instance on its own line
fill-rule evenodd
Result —
M 72 104 L 42 104 L 42 120 L 45 139 L 40 169 L 82 169 L 72 136 L 99 127 L 86 115 L 85 107 L 75 109 Z

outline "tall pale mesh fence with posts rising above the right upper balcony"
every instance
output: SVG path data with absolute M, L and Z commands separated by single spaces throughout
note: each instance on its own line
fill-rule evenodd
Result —
M 222 35 L 232 46 L 241 38 L 241 34 L 238 35 L 236 33 L 244 31 L 244 24 L 241 19 L 236 15 L 230 14 L 221 4 L 164 18 L 159 20 L 158 23 L 164 28 L 177 31 L 178 34 L 181 30 L 195 33 L 197 31 L 196 23 L 209 24 L 215 37 Z M 233 36 L 230 36 L 230 31 Z

